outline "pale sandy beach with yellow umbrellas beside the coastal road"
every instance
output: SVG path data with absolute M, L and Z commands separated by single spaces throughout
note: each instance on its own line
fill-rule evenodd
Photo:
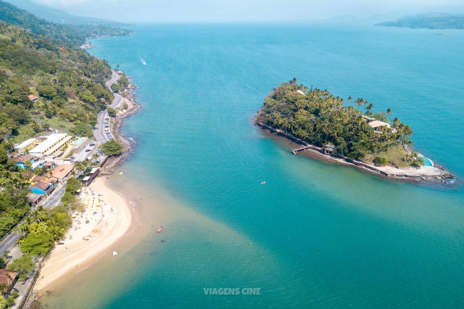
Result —
M 88 188 L 83 188 L 80 198 L 86 204 L 85 212 L 73 218 L 64 244 L 53 248 L 34 290 L 52 290 L 65 274 L 77 273 L 104 255 L 112 255 L 112 245 L 130 227 L 132 206 L 126 197 L 109 189 L 103 177 L 98 177 Z

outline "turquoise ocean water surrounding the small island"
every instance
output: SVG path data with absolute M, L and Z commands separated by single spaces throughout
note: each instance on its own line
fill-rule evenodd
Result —
M 77 280 L 46 303 L 463 308 L 464 32 L 436 32 L 140 25 L 131 37 L 93 41 L 90 53 L 133 78 L 143 107 L 123 127 L 136 142 L 121 168 L 125 185 L 154 208 L 158 198 L 172 203 L 146 218 L 155 242 L 118 255 L 117 274 L 107 269 L 96 286 Z M 290 143 L 251 117 L 274 86 L 293 77 L 363 97 L 375 111 L 392 108 L 415 132 L 415 149 L 456 182 L 394 182 L 291 154 Z M 261 290 L 203 291 L 221 287 Z

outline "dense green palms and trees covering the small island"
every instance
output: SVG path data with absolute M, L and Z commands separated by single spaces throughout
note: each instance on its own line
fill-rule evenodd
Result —
M 348 103 L 352 104 L 352 101 L 349 97 Z M 406 163 L 409 157 L 406 158 L 408 152 L 404 150 L 404 146 L 412 145 L 409 126 L 394 118 L 392 128 L 380 126 L 375 132 L 363 118 L 364 115 L 387 120 L 391 109 L 373 114 L 374 105 L 362 98 L 355 100 L 354 106 L 345 106 L 344 103 L 342 98 L 335 97 L 328 90 L 308 89 L 293 79 L 273 89 L 264 99 L 257 117 L 258 121 L 289 132 L 310 144 L 323 147 L 332 143 L 336 146 L 336 153 L 342 156 L 362 160 L 370 154 L 388 153 L 389 149 L 396 149 L 401 151 L 401 161 L 410 164 L 409 161 Z M 364 107 L 365 112 L 356 107 Z M 385 157 L 393 165 L 398 164 L 388 158 L 388 154 Z M 420 165 L 416 157 L 411 157 L 412 162 Z

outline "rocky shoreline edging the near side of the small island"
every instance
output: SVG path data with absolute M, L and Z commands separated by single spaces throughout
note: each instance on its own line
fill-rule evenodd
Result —
M 389 178 L 389 179 L 395 179 L 395 180 L 400 180 L 400 181 L 406 181 L 406 182 L 412 182 L 412 183 L 418 183 L 418 182 L 433 182 L 433 183 L 440 183 L 440 184 L 447 184 L 450 183 L 450 179 L 454 179 L 454 175 L 452 175 L 449 171 L 445 170 L 443 166 L 439 164 L 434 164 L 434 166 L 443 171 L 442 173 L 439 173 L 439 175 L 426 175 L 426 174 L 419 174 L 419 175 L 409 175 L 406 173 L 388 173 L 383 170 L 380 170 L 380 168 L 377 168 L 373 165 L 367 164 L 363 161 L 360 160 L 354 160 L 348 157 L 340 156 L 340 155 L 326 155 L 324 154 L 324 151 L 321 147 L 318 147 L 316 145 L 311 145 L 301 139 L 296 138 L 295 136 L 291 135 L 290 133 L 283 132 L 281 130 L 278 130 L 276 128 L 273 128 L 271 126 L 268 126 L 260 121 L 258 121 L 257 116 L 253 117 L 253 124 L 256 126 L 259 126 L 261 129 L 263 129 L 266 132 L 282 136 L 286 139 L 289 139 L 296 145 L 305 145 L 308 148 L 305 149 L 303 152 L 306 152 L 309 154 L 311 158 L 314 158 L 316 160 L 321 160 L 325 162 L 330 162 L 330 163 L 336 163 L 336 164 L 343 164 L 347 166 L 353 166 L 355 168 L 367 171 L 373 175 L 384 177 L 384 178 Z

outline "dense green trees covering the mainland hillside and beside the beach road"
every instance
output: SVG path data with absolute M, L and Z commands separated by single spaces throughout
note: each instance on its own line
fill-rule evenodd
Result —
M 79 47 L 96 34 L 128 32 L 108 25 L 54 24 L 0 1 L 0 236 L 30 211 L 29 183 L 20 175 L 26 170 L 9 160 L 14 144 L 52 129 L 92 137 L 97 113 L 113 100 L 105 86 L 110 66 Z M 40 99 L 33 102 L 29 95 Z M 48 173 L 45 168 L 34 172 Z M 35 222 L 40 233 L 27 232 L 22 240 L 34 255 L 52 243 L 47 233 L 54 238 L 49 227 L 54 231 L 55 214 L 45 213 L 52 226 Z

